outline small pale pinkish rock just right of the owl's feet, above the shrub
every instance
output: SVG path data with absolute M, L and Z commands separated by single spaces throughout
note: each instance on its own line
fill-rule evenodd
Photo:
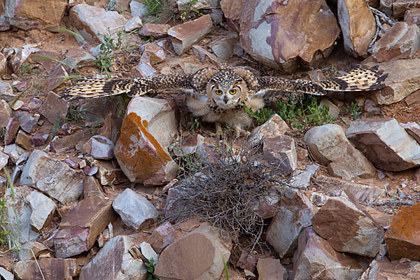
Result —
M 286 134 L 288 131 L 289 127 L 284 120 L 274 114 L 265 123 L 253 129 L 246 144 L 250 147 L 256 146 L 265 138 L 274 138 Z

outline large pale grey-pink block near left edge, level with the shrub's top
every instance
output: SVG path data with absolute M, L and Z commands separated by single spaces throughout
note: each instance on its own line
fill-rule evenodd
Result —
M 84 175 L 64 162 L 34 150 L 20 177 L 20 185 L 32 186 L 65 204 L 78 200 L 83 193 Z

